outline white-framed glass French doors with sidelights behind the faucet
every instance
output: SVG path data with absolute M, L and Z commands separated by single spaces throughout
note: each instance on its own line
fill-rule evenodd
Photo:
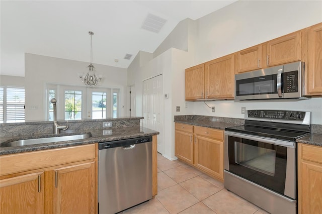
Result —
M 53 121 L 53 105 L 57 99 L 57 120 L 106 119 L 119 116 L 120 89 L 92 88 L 47 84 L 46 118 Z

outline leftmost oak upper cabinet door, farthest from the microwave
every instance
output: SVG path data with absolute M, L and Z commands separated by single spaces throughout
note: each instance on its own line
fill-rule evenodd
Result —
M 204 64 L 186 69 L 186 100 L 203 99 L 204 89 Z

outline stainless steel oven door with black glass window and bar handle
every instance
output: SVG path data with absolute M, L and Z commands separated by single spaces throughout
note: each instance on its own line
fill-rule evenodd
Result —
M 296 198 L 295 143 L 225 131 L 226 171 Z

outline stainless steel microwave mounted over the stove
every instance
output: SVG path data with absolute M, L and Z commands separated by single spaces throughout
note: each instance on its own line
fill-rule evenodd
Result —
M 304 62 L 235 75 L 235 100 L 306 98 Z

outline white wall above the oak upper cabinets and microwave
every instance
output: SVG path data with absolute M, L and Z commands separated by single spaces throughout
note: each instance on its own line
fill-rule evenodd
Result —
M 237 1 L 196 22 L 200 64 L 322 22 L 322 1 Z

